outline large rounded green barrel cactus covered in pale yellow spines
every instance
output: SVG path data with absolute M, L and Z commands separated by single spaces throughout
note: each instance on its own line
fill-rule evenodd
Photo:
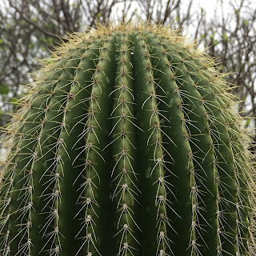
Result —
M 256 254 L 251 142 L 212 58 L 134 22 L 42 63 L 5 128 L 1 256 Z

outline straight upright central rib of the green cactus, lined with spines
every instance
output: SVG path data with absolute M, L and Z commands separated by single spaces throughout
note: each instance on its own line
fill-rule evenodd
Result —
M 136 170 L 134 133 L 138 129 L 134 117 L 134 78 L 131 63 L 129 34 L 118 34 L 117 72 L 113 111 L 110 115 L 112 141 L 109 145 L 114 154 L 111 171 L 112 201 L 114 210 L 114 243 L 117 255 L 138 255 L 138 173 Z M 137 126 L 137 127 L 136 127 Z

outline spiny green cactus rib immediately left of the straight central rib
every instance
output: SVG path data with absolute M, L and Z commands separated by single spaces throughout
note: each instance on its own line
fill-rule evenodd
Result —
M 115 38 L 115 34 L 107 36 L 99 49 L 98 62 L 92 69 L 86 132 L 82 134 L 85 143 L 79 152 L 85 157 L 86 181 L 81 186 L 81 196 L 78 198 L 84 217 L 83 230 L 77 236 L 82 239 L 82 246 L 78 248 L 76 255 L 102 255 L 102 250 L 107 248 L 110 253 L 112 251 L 109 238 L 104 237 L 109 229 L 110 218 L 110 166 L 106 162 L 110 155 L 102 150 L 104 142 L 109 141 L 110 122 L 106 120 L 110 116 L 108 106 L 112 105 L 109 94 L 114 83 Z

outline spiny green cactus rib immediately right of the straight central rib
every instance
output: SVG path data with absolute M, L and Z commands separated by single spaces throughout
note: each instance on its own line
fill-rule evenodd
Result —
M 138 170 L 143 177 L 142 254 L 152 254 L 147 246 L 152 245 L 155 255 L 171 253 L 171 240 L 167 234 L 167 208 L 171 207 L 167 199 L 166 161 L 168 154 L 162 143 L 162 128 L 158 109 L 158 83 L 154 78 L 150 61 L 150 46 L 142 33 L 134 33 L 134 93 L 139 125 L 144 133 L 138 132 L 141 143 L 138 145 L 140 162 Z M 144 216 L 145 215 L 145 216 Z

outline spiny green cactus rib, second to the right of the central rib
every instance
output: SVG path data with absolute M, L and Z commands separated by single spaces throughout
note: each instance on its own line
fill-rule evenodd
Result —
M 160 38 L 147 34 L 151 46 L 151 54 L 155 65 L 154 73 L 159 81 L 158 92 L 164 96 L 159 100 L 159 108 L 164 116 L 162 129 L 166 143 L 167 166 L 170 175 L 166 178 L 171 184 L 168 199 L 171 208 L 168 211 L 170 226 L 168 233 L 172 241 L 173 255 L 195 255 L 194 242 L 196 241 L 195 209 L 197 191 L 195 183 L 194 162 L 191 158 L 191 147 L 188 135 L 190 130 L 186 124 L 185 110 L 177 83 L 176 74 L 168 60 L 168 52 L 164 49 Z M 182 201 L 178 201 L 182 198 Z

